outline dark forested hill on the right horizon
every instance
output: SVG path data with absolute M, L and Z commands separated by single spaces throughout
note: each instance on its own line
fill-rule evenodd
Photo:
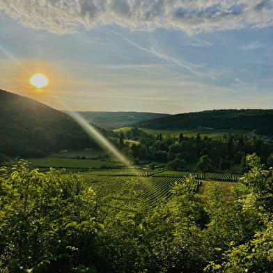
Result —
M 233 129 L 255 130 L 256 134 L 273 135 L 273 110 L 212 110 L 177 114 L 134 123 L 149 129 Z

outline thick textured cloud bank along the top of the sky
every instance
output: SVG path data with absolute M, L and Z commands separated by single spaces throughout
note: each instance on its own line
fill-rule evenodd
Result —
M 24 26 L 60 34 L 98 24 L 189 34 L 273 25 L 273 0 L 1 0 L 0 10 Z

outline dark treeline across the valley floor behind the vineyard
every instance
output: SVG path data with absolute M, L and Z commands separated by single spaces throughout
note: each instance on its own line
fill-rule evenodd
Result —
M 241 164 L 241 171 L 246 171 L 246 155 L 257 153 L 263 164 L 273 166 L 270 159 L 273 153 L 273 144 L 265 143 L 256 135 L 249 138 L 247 135 L 224 134 L 222 139 L 212 140 L 209 137 L 162 137 L 158 134 L 146 134 L 138 128 L 132 128 L 127 132 L 120 132 L 120 148 L 127 156 L 137 159 L 157 162 L 172 162 L 170 169 L 185 169 L 187 164 L 196 164 L 196 169 L 201 171 L 230 169 L 233 164 Z M 139 144 L 126 146 L 124 139 L 138 140 Z M 167 165 L 168 166 L 168 165 Z

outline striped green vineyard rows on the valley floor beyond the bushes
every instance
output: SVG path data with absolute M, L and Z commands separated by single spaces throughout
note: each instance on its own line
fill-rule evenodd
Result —
M 202 180 L 237 182 L 242 177 L 234 173 L 153 171 L 143 169 L 91 171 L 80 173 L 79 176 L 88 185 L 92 185 L 98 196 L 104 197 L 108 194 L 124 192 L 131 188 L 137 191 L 148 205 L 152 206 L 160 198 L 171 197 L 171 189 L 176 182 L 184 185 L 185 191 L 198 193 Z

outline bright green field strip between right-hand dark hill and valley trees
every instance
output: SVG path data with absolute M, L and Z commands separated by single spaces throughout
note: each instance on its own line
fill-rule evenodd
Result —
M 123 127 L 114 130 L 114 132 L 127 132 L 130 131 L 132 127 Z M 164 138 L 178 138 L 180 133 L 184 135 L 184 137 L 196 137 L 196 134 L 200 133 L 201 137 L 210 137 L 211 139 L 217 140 L 222 139 L 223 134 L 232 132 L 233 134 L 246 134 L 247 131 L 230 131 L 230 130 L 214 130 L 214 129 L 204 129 L 201 130 L 180 130 L 180 129 L 172 129 L 172 130 L 153 130 L 153 129 L 146 129 L 146 128 L 139 128 L 139 130 L 146 132 L 147 134 L 153 134 L 157 136 L 157 134 L 162 134 Z

